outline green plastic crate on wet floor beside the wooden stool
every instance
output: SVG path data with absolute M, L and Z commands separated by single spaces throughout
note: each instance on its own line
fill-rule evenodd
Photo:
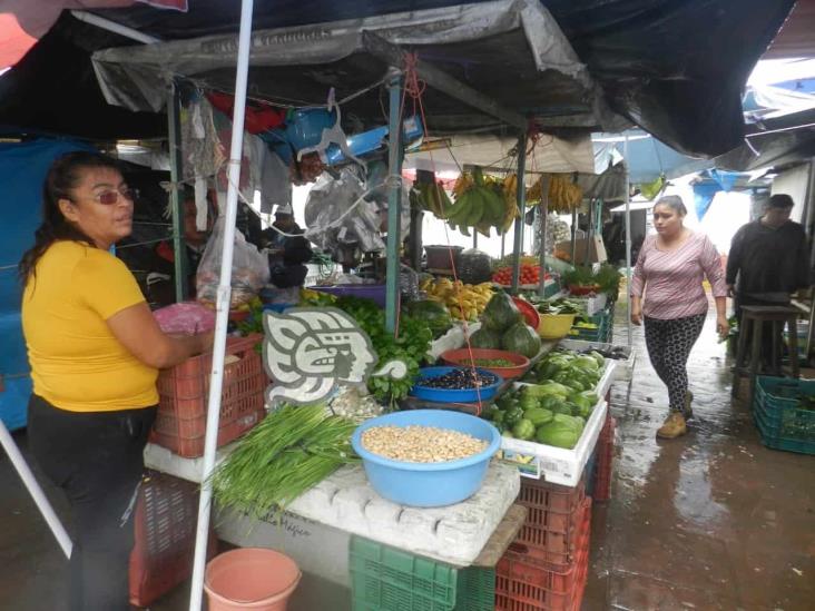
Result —
M 815 381 L 758 376 L 753 415 L 767 447 L 815 455 L 815 410 L 799 408 L 798 394 L 814 396 Z

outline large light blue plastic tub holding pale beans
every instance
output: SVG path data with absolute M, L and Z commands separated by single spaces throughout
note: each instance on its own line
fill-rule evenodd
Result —
M 362 433 L 374 426 L 435 426 L 460 431 L 489 442 L 483 452 L 444 463 L 392 461 L 362 447 Z M 501 447 L 501 434 L 485 420 L 445 410 L 394 412 L 361 424 L 351 438 L 362 457 L 369 482 L 385 499 L 414 507 L 440 507 L 460 503 L 478 492 L 490 459 Z

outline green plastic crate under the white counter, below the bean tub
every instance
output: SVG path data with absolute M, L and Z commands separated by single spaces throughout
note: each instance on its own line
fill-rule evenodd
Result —
M 361 536 L 351 538 L 354 611 L 491 611 L 495 571 L 456 569 Z

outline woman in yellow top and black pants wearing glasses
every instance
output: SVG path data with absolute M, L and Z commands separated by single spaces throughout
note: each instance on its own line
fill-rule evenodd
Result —
M 212 334 L 161 333 L 136 279 L 109 253 L 130 234 L 132 209 L 114 159 L 65 155 L 48 171 L 42 224 L 20 262 L 29 444 L 73 510 L 75 611 L 129 609 L 130 514 L 158 369 L 212 343 Z

